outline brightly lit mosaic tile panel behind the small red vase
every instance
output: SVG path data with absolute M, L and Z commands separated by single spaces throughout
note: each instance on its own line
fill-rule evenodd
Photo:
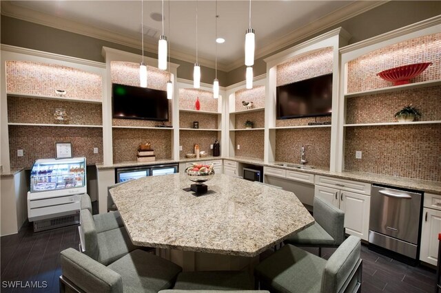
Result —
M 211 91 L 203 89 L 179 89 L 179 109 L 196 110 L 196 98 L 199 98 L 199 111 L 218 111 L 218 99 L 213 98 Z

